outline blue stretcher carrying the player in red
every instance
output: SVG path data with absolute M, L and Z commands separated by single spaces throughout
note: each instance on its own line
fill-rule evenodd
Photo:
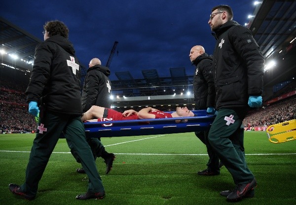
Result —
M 86 137 L 90 138 L 171 134 L 207 130 L 215 119 L 215 116 L 208 115 L 206 110 L 193 113 L 194 117 L 183 118 L 87 122 L 84 123 L 84 128 Z M 181 122 L 176 123 L 176 120 Z

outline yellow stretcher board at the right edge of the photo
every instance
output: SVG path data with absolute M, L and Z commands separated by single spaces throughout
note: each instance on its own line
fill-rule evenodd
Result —
M 296 139 L 296 120 L 270 125 L 267 129 L 268 140 L 272 143 L 288 142 Z

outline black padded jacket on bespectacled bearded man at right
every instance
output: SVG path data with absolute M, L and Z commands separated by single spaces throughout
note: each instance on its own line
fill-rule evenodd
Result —
M 235 21 L 227 21 L 214 32 L 216 107 L 246 107 L 250 95 L 262 94 L 264 57 L 259 45 L 250 30 Z

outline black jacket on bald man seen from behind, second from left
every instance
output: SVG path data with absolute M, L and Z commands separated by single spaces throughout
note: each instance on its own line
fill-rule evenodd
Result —
M 93 105 L 111 108 L 109 68 L 95 65 L 87 70 L 82 90 L 82 108 L 86 112 Z

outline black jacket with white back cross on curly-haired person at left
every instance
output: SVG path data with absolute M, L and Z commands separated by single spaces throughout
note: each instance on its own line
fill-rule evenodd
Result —
M 55 113 L 82 114 L 80 66 L 74 53 L 73 44 L 58 35 L 37 45 L 26 90 L 28 102 L 41 103 Z

